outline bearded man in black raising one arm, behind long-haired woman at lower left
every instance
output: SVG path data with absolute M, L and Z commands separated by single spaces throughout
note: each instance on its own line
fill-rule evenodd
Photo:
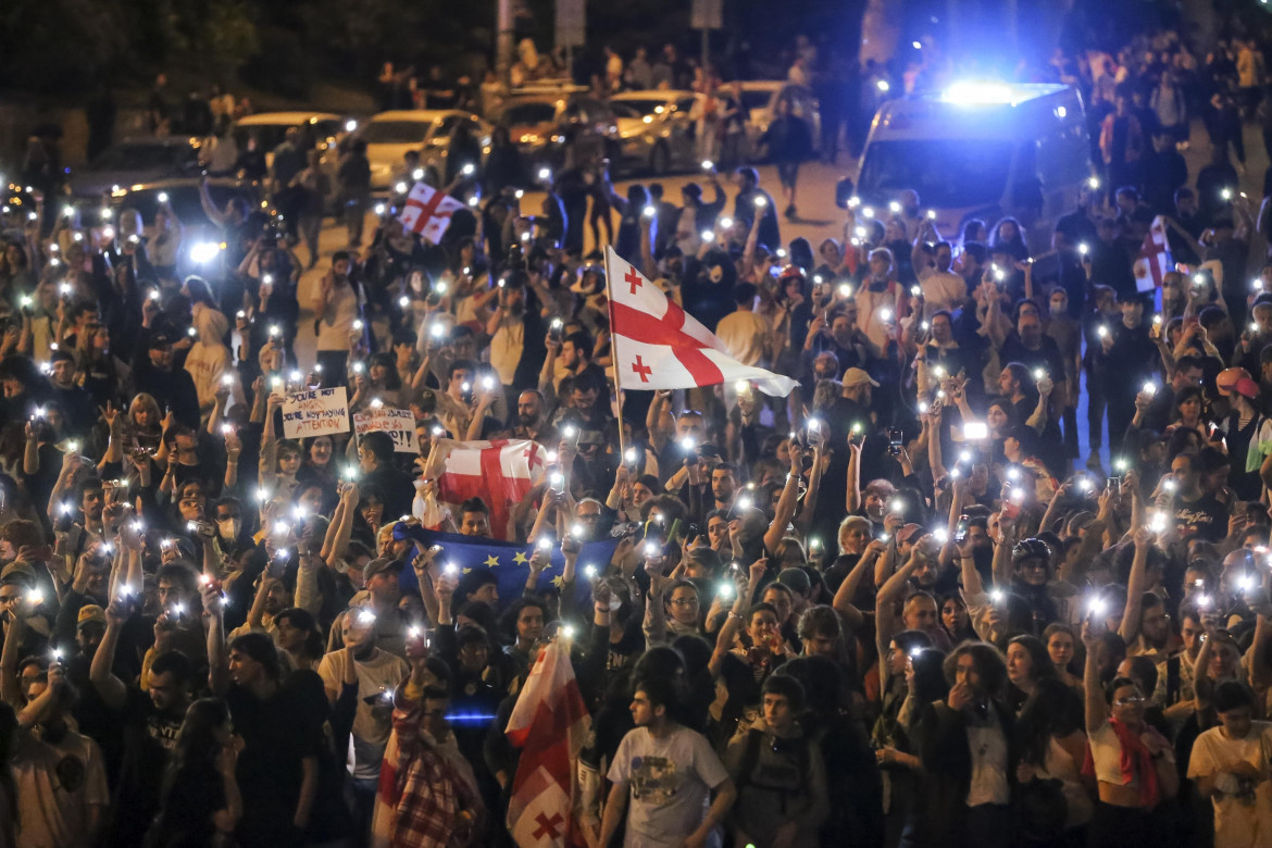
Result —
M 106 629 L 92 657 L 89 680 L 109 711 L 116 734 L 123 728 L 123 763 L 116 779 L 113 806 L 128 814 L 112 820 L 107 844 L 125 848 L 141 844 L 159 810 L 163 774 L 190 707 L 195 669 L 183 653 L 168 651 L 151 664 L 145 693 L 125 684 L 112 669 L 120 637 L 127 622 L 135 618 L 131 603 L 112 603 L 102 618 Z

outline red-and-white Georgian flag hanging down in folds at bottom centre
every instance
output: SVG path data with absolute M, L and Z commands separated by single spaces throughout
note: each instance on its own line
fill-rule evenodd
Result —
M 508 829 L 520 848 L 588 844 L 574 812 L 574 764 L 590 726 L 569 639 L 558 637 L 539 651 L 505 731 L 522 749 L 508 802 Z

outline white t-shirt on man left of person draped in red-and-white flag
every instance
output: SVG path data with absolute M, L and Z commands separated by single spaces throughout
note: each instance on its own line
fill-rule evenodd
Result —
M 338 694 L 343 689 L 346 662 L 349 653 L 336 651 L 318 664 L 318 676 L 328 690 Z M 366 662 L 354 662 L 354 667 L 357 670 L 357 712 L 350 737 L 352 762 L 349 770 L 355 779 L 373 779 L 380 773 L 384 746 L 393 730 L 393 702 L 380 695 L 392 694 L 411 669 L 402 657 L 379 648 Z M 373 703 L 366 703 L 368 698 L 374 698 Z

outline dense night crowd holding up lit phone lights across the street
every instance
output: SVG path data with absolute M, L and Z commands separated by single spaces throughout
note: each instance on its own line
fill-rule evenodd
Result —
M 590 188 L 529 215 L 450 174 L 440 244 L 391 200 L 304 301 L 242 201 L 205 195 L 197 275 L 163 207 L 6 207 L 0 848 L 511 844 L 504 731 L 552 639 L 590 845 L 1272 844 L 1269 212 L 1226 125 L 1189 174 L 1168 120 L 1249 103 L 1253 60 L 1194 97 L 1184 53 L 1057 66 L 1096 164 L 1046 256 L 913 191 L 784 240 L 750 167 L 611 192 L 617 252 L 789 398 L 619 406 Z M 287 439 L 317 386 L 410 409 L 418 454 Z M 497 439 L 542 479 L 441 502 L 439 440 Z M 524 591 L 422 529 L 533 545 Z

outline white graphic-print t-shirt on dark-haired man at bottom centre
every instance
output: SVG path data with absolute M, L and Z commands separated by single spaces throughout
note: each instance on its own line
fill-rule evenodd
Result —
M 609 767 L 630 787 L 625 848 L 679 848 L 702 825 L 709 790 L 726 779 L 706 736 L 679 725 L 665 739 L 637 727 L 623 736 Z

